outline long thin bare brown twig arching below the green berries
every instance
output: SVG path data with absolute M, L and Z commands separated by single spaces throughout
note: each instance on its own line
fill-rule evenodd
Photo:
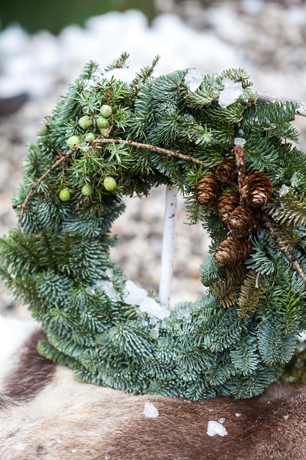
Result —
M 110 126 L 106 136 L 109 135 L 111 129 L 112 129 L 113 125 Z M 202 162 L 201 160 L 197 159 L 197 158 L 194 158 L 193 156 L 190 156 L 190 155 L 183 155 L 183 153 L 180 153 L 180 152 L 174 152 L 173 150 L 168 150 L 168 149 L 164 149 L 162 147 L 157 147 L 156 145 L 151 145 L 151 144 L 141 144 L 140 142 L 134 142 L 134 141 L 124 141 L 123 139 L 108 139 L 107 137 L 97 137 L 97 139 L 95 139 L 94 141 L 86 141 L 87 144 L 125 144 L 125 145 L 130 145 L 130 146 L 133 146 L 133 147 L 136 147 L 138 149 L 142 148 L 142 149 L 147 149 L 147 150 L 151 150 L 151 151 L 156 151 L 156 152 L 161 152 L 161 153 L 164 153 L 166 154 L 168 157 L 171 157 L 171 156 L 174 156 L 176 158 L 182 158 L 184 160 L 186 160 L 187 162 L 193 162 L 193 163 L 197 163 L 198 165 L 205 165 L 206 163 L 205 162 Z M 35 190 L 37 189 L 37 187 L 39 186 L 39 184 L 48 176 L 48 174 L 53 171 L 58 165 L 60 165 L 61 163 L 65 162 L 67 158 L 69 158 L 69 156 L 72 155 L 73 152 L 76 152 L 79 150 L 79 148 L 82 146 L 83 144 L 78 144 L 78 145 L 75 145 L 74 147 L 72 147 L 70 150 L 68 150 L 68 152 L 58 152 L 60 155 L 62 155 L 47 171 L 45 171 L 43 173 L 43 175 L 41 177 L 39 177 L 39 179 L 35 179 L 35 185 L 31 188 L 31 190 L 29 191 L 28 195 L 25 197 L 24 201 L 22 204 L 14 204 L 13 205 L 13 208 L 16 209 L 16 208 L 21 208 L 21 213 L 19 215 L 19 220 L 22 220 L 22 217 L 23 217 L 23 214 L 24 214 L 24 211 L 27 210 L 27 203 L 29 201 L 29 199 L 31 198 L 31 196 L 33 195 L 33 193 L 35 192 Z

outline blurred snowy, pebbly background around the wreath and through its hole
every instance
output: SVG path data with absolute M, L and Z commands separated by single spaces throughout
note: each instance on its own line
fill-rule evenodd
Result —
M 0 27 L 0 234 L 16 225 L 10 200 L 20 181 L 25 145 L 89 60 L 103 67 L 127 51 L 137 71 L 160 54 L 156 75 L 185 67 L 200 73 L 244 67 L 255 90 L 306 99 L 302 0 L 88 0 L 86 6 L 78 0 L 3 0 Z M 306 119 L 297 117 L 295 123 L 305 149 Z M 164 189 L 154 189 L 148 198 L 128 200 L 114 225 L 121 237 L 114 260 L 133 281 L 155 292 L 163 212 Z M 180 198 L 172 305 L 205 292 L 199 266 L 209 240 L 200 225 L 184 221 Z M 1 287 L 2 312 L 27 315 L 11 302 Z

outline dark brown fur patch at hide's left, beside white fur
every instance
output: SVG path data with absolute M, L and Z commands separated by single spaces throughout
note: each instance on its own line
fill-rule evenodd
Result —
M 33 398 L 52 380 L 56 363 L 37 353 L 39 340 L 47 340 L 42 330 L 33 332 L 24 343 L 15 368 L 5 380 L 4 393 L 7 397 L 22 400 Z

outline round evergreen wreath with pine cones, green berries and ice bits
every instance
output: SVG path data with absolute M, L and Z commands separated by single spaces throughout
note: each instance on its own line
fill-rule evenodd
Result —
M 47 333 L 39 353 L 82 381 L 191 400 L 259 395 L 306 327 L 295 105 L 257 103 L 242 69 L 198 88 L 190 70 L 152 78 L 158 58 L 126 84 L 127 58 L 102 73 L 90 62 L 29 145 L 1 276 Z M 160 184 L 178 187 L 190 224 L 212 238 L 208 294 L 171 312 L 109 256 L 121 197 Z

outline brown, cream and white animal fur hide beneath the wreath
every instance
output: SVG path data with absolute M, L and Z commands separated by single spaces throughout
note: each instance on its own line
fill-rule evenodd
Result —
M 306 458 L 306 389 L 190 402 L 79 383 L 36 352 L 35 323 L 0 317 L 0 458 L 76 460 Z M 144 416 L 144 404 L 159 411 Z M 225 436 L 209 436 L 221 420 Z

